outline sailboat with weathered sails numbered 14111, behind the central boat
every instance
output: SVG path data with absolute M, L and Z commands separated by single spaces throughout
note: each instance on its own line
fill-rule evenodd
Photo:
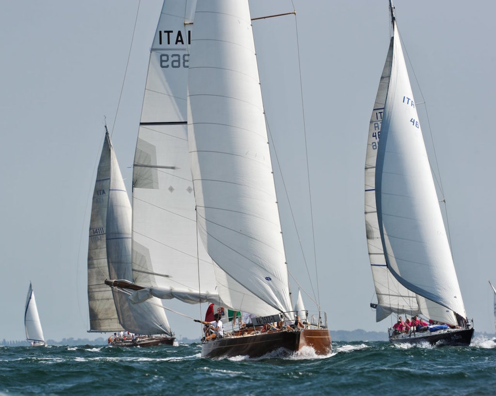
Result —
M 135 305 L 127 294 L 112 290 L 105 284 L 109 277 L 127 281 L 133 279 L 131 205 L 105 125 L 88 242 L 89 331 L 125 331 L 123 337 L 109 338 L 109 343 L 116 346 L 173 344 L 175 337 L 165 311 L 160 307 L 160 300 L 153 298 L 148 303 Z

